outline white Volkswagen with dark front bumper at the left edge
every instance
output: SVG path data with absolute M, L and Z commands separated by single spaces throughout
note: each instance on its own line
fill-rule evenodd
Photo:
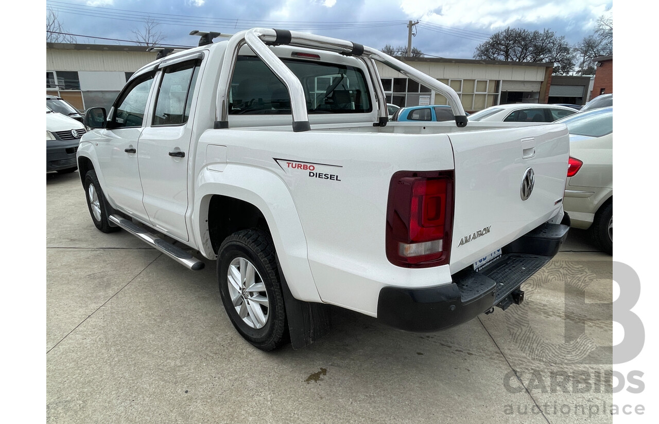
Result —
M 47 103 L 47 105 L 50 105 Z M 76 152 L 84 125 L 51 108 L 45 108 L 45 170 L 60 173 L 78 169 Z

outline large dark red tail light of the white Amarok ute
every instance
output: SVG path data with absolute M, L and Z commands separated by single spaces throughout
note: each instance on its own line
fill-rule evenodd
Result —
M 407 268 L 449 263 L 453 181 L 453 171 L 393 174 L 387 204 L 389 262 Z

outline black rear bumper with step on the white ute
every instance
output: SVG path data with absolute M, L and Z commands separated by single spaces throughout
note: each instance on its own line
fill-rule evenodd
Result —
M 503 247 L 501 258 L 476 272 L 465 268 L 453 282 L 424 289 L 384 287 L 378 320 L 406 331 L 438 331 L 476 318 L 493 306 L 520 302 L 519 287 L 557 253 L 567 225 L 542 224 Z

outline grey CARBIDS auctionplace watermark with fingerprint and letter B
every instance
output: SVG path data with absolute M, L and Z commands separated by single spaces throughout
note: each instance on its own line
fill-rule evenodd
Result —
M 528 392 L 534 399 L 534 395 L 540 393 L 585 394 L 585 397 L 582 396 L 583 402 L 573 399 L 572 404 L 507 404 L 505 414 L 553 413 L 592 417 L 603 413 L 645 413 L 643 405 L 617 406 L 611 402 L 610 396 L 606 396 L 623 390 L 631 394 L 645 390 L 643 371 L 632 370 L 623 374 L 602 366 L 633 360 L 645 344 L 645 326 L 632 311 L 641 296 L 639 275 L 627 264 L 615 261 L 612 262 L 612 273 L 619 286 L 619 296 L 613 302 L 606 302 L 606 294 L 602 294 L 602 284 L 606 281 L 590 272 L 587 266 L 571 261 L 552 261 L 542 273 L 527 281 L 527 302 L 507 311 L 507 328 L 513 342 L 534 364 L 548 366 L 513 369 L 503 377 L 503 387 L 509 393 Z M 556 335 L 560 335 L 560 329 L 544 327 L 540 333 L 533 325 L 534 318 L 543 314 L 548 319 L 556 319 L 555 304 L 528 301 L 537 296 L 540 289 L 556 289 L 557 281 L 564 284 L 563 334 L 558 339 Z M 608 287 L 604 293 L 608 293 Z M 590 294 L 588 301 L 587 294 Z M 624 337 L 612 346 L 614 321 L 623 328 Z M 554 339 L 548 334 L 553 334 Z M 596 394 L 605 396 L 591 396 Z M 600 398 L 600 402 L 594 402 L 595 398 Z

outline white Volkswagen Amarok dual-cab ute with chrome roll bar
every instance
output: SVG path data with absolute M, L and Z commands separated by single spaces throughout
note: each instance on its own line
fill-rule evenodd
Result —
M 450 87 L 349 41 L 197 35 L 88 110 L 78 168 L 101 231 L 191 270 L 217 260 L 257 348 L 318 339 L 326 304 L 408 331 L 505 310 L 565 240 L 563 124 L 467 126 Z M 455 123 L 388 122 L 376 60 L 447 97 Z

